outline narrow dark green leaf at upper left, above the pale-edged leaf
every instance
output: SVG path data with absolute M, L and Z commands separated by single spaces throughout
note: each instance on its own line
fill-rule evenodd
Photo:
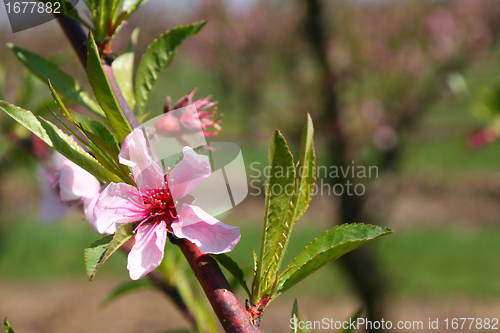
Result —
M 24 50 L 13 44 L 9 43 L 7 46 L 14 52 L 16 57 L 42 81 L 47 82 L 47 80 L 50 80 L 54 88 L 58 91 L 64 93 L 93 113 L 101 117 L 105 116 L 99 105 L 83 90 L 80 84 L 71 76 L 61 71 L 57 65 L 38 54 Z

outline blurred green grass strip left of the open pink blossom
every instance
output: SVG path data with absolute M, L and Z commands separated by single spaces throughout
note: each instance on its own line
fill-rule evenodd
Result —
M 33 216 L 5 221 L 0 276 L 15 280 L 86 278 L 83 249 L 102 237 L 84 221 L 38 223 Z M 99 275 L 127 274 L 125 257 L 113 256 Z

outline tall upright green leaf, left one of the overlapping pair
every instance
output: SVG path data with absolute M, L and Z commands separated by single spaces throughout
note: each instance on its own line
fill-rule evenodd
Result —
M 253 301 L 271 295 L 284 256 L 284 238 L 289 234 L 287 222 L 294 192 L 295 167 L 285 138 L 276 130 L 269 143 L 269 173 L 266 182 L 264 234 L 260 259 L 253 284 Z

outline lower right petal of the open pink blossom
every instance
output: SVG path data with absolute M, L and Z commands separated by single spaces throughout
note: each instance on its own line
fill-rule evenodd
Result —
M 178 214 L 178 221 L 172 223 L 174 234 L 205 253 L 232 251 L 240 240 L 240 228 L 220 222 L 200 207 L 183 204 Z

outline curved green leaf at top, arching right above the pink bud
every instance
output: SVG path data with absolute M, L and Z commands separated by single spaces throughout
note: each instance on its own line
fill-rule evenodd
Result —
M 173 60 L 179 45 L 190 35 L 196 35 L 205 21 L 174 28 L 160 35 L 142 56 L 135 78 L 135 97 L 139 115 L 146 109 L 153 89 L 163 70 Z

